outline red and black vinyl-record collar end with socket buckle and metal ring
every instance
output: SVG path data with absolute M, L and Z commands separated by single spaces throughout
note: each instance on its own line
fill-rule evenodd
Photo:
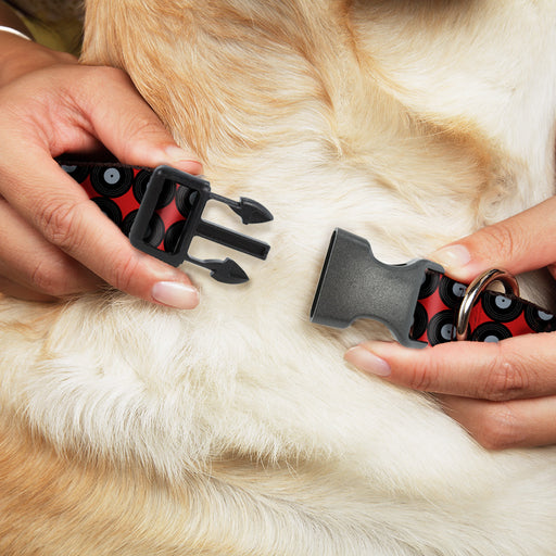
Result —
M 502 281 L 505 293 L 488 290 Z M 311 320 L 345 328 L 358 318 L 387 325 L 410 348 L 454 340 L 500 341 L 556 330 L 556 317 L 518 296 L 507 273 L 489 270 L 470 286 L 457 282 L 430 261 L 386 265 L 364 238 L 336 229 L 317 286 Z

